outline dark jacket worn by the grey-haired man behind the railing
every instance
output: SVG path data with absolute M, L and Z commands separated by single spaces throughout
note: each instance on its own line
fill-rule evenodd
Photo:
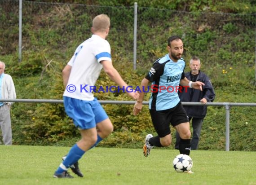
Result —
M 185 77 L 189 80 L 190 72 L 185 73 Z M 199 75 L 196 81 L 203 82 L 203 91 L 194 88 L 187 88 L 187 93 L 185 93 L 185 88 L 182 88 L 182 93 L 179 92 L 179 97 L 181 101 L 186 102 L 200 102 L 202 98 L 207 99 L 207 102 L 212 102 L 215 98 L 215 92 L 212 87 L 212 83 L 207 75 L 199 70 Z M 194 118 L 204 118 L 207 112 L 207 106 L 184 106 L 186 113 L 189 117 Z

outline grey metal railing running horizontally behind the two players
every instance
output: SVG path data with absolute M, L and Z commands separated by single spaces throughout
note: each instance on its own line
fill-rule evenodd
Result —
M 63 100 L 53 100 L 53 99 L 0 99 L 0 102 L 23 102 L 23 103 L 63 103 Z M 109 101 L 109 100 L 99 100 L 99 102 L 104 104 L 126 104 L 134 105 L 136 101 Z M 148 105 L 149 101 L 143 101 L 143 105 Z M 200 102 L 182 102 L 184 106 L 225 106 L 225 137 L 226 137 L 226 151 L 230 151 L 230 107 L 231 106 L 256 106 L 256 103 L 230 103 L 230 102 L 207 102 L 202 104 Z

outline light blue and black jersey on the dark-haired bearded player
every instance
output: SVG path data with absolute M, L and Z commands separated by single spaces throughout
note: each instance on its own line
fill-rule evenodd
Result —
M 173 62 L 169 54 L 154 62 L 145 77 L 152 82 L 149 109 L 167 110 L 180 102 L 178 88 L 180 80 L 185 77 L 184 70 L 185 61 L 181 58 Z

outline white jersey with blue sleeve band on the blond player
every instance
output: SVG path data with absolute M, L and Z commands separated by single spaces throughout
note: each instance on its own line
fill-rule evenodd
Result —
M 73 87 L 70 88 L 72 92 L 67 91 L 66 88 L 63 96 L 92 101 L 94 96 L 90 87 L 95 85 L 100 75 L 102 70 L 100 62 L 103 60 L 112 62 L 110 44 L 100 36 L 92 35 L 76 48 L 73 57 L 68 62 L 72 68 L 67 88 L 70 87 L 69 85 Z

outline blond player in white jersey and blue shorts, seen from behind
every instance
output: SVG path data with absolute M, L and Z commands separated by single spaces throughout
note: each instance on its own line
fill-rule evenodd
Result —
M 106 40 L 109 29 L 110 18 L 105 14 L 97 15 L 93 19 L 92 37 L 76 48 L 73 57 L 62 70 L 65 111 L 73 119 L 82 138 L 62 158 L 63 162 L 53 175 L 55 178 L 73 178 L 67 172 L 69 167 L 82 177 L 78 160 L 113 131 L 113 125 L 105 110 L 89 89 L 95 85 L 102 68 L 116 84 L 128 89 L 126 93 L 130 97 L 135 100 L 139 97 L 138 93 L 128 88 L 128 84 L 112 65 L 110 44 Z

